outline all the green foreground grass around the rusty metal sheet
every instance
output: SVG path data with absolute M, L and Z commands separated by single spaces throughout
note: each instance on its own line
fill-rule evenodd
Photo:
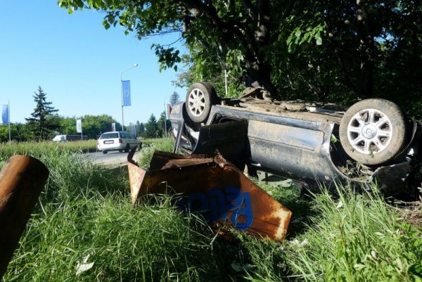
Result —
M 172 149 L 171 139 L 150 144 L 143 166 L 155 148 Z M 26 152 L 51 177 L 3 281 L 421 281 L 421 231 L 376 192 L 339 187 L 335 197 L 300 198 L 294 186 L 258 182 L 293 211 L 286 241 L 237 231 L 226 240 L 172 197 L 132 207 L 127 175 L 82 162 L 75 150 L 19 146 L 1 150 L 0 160 Z M 94 264 L 77 275 L 84 259 Z

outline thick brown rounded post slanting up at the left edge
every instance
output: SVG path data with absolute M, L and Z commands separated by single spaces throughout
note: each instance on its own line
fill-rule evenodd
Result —
M 49 178 L 39 160 L 15 155 L 0 173 L 0 279 L 6 272 L 34 205 Z

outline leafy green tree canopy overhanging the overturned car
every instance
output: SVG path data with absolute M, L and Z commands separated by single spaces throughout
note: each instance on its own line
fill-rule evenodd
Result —
M 267 5 L 267 12 L 257 3 Z M 136 32 L 138 39 L 179 32 L 190 51 L 186 66 L 191 73 L 184 77 L 193 81 L 185 85 L 207 79 L 225 92 L 226 69 L 231 96 L 241 93 L 245 72 L 271 78 L 283 98 L 348 104 L 362 95 L 361 89 L 373 88 L 375 96 L 395 101 L 420 118 L 422 37 L 415 34 L 420 34 L 421 1 L 359 3 L 58 0 L 68 13 L 101 11 L 106 29 L 119 24 L 125 34 Z M 358 5 L 368 12 L 371 34 L 357 20 Z M 153 46 L 160 70 L 177 70 L 181 62 L 181 54 L 170 47 Z M 370 66 L 366 74 L 362 63 Z

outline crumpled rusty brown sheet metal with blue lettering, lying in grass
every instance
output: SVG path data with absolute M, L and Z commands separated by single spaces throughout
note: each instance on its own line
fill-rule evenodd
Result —
M 212 224 L 282 241 L 291 212 L 224 160 L 155 151 L 150 169 L 128 157 L 132 203 L 147 194 L 181 193 L 179 207 L 200 213 Z

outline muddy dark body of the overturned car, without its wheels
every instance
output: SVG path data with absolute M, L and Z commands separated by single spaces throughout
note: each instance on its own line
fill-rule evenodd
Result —
M 170 115 L 174 153 L 181 149 L 186 154 L 212 155 L 218 150 L 239 169 L 247 166 L 252 172 L 277 174 L 309 188 L 335 184 L 371 188 L 376 182 L 381 191 L 395 195 L 414 193 L 420 185 L 416 174 L 422 163 L 422 130 L 418 122 L 411 121 L 407 146 L 388 165 L 362 166 L 345 154 L 338 139 L 343 112 L 312 108 L 311 113 L 308 108 L 276 113 L 262 110 L 260 103 L 225 99 L 221 105 L 212 105 L 203 124 L 189 119 L 184 102 L 175 104 Z M 352 176 L 347 172 L 349 165 L 358 165 L 366 173 Z

